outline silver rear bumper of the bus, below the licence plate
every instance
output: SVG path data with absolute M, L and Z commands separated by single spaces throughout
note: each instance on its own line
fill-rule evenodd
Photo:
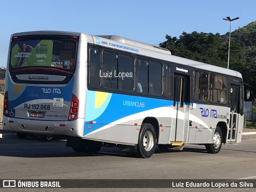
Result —
M 75 121 L 42 121 L 3 116 L 3 129 L 22 134 L 83 137 L 84 119 L 78 118 Z

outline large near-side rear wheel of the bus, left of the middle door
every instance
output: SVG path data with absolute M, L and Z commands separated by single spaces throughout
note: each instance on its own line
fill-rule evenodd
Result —
M 140 129 L 136 154 L 140 158 L 150 158 L 156 149 L 156 131 L 148 123 L 143 123 Z

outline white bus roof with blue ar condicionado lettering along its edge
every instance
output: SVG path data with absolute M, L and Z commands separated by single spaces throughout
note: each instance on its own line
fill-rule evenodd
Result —
M 23 36 L 23 35 L 71 35 L 71 36 L 85 36 L 87 42 L 105 46 L 108 48 L 114 48 L 122 51 L 131 52 L 134 54 L 139 54 L 142 56 L 147 56 L 151 58 L 156 58 L 160 60 L 165 60 L 168 62 L 174 62 L 177 64 L 182 64 L 184 66 L 191 66 L 193 68 L 198 68 L 202 70 L 208 70 L 212 72 L 218 72 L 221 74 L 227 74 L 230 76 L 236 76 L 242 78 L 242 75 L 234 70 L 227 68 L 222 68 L 178 56 L 174 56 L 171 52 L 165 48 L 158 46 L 153 46 L 150 44 L 138 42 L 128 38 L 124 38 L 116 35 L 101 35 L 101 36 L 92 36 L 85 33 L 78 32 L 64 32 L 64 31 L 31 31 L 31 32 L 20 32 L 14 33 L 12 36 Z

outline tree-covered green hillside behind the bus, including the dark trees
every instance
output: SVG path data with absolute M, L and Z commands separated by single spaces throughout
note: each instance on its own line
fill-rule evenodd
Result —
M 256 22 L 231 32 L 229 68 L 237 70 L 246 84 L 256 87 Z M 166 35 L 159 45 L 173 55 L 227 67 L 229 32 L 183 32 L 179 37 Z

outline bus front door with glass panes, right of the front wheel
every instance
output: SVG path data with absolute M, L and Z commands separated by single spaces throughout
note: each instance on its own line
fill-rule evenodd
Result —
M 239 86 L 230 85 L 230 119 L 228 129 L 228 142 L 236 142 L 239 123 Z

